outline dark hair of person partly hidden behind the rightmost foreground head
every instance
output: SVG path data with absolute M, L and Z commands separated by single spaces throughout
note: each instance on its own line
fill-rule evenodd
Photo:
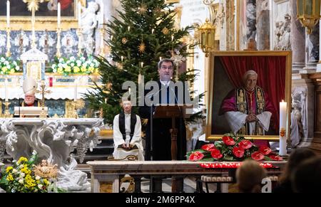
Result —
M 308 148 L 297 148 L 294 151 L 291 152 L 289 160 L 287 161 L 287 164 L 285 165 L 285 170 L 282 172 L 279 182 L 285 183 L 287 181 L 290 181 L 290 176 L 295 170 L 295 168 L 302 163 L 302 161 L 305 161 L 306 159 L 309 159 L 311 157 L 316 156 L 315 152 L 313 152 L 311 149 Z

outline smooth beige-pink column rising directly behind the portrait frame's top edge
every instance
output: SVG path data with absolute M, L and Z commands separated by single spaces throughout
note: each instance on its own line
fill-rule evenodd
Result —
M 270 50 L 270 11 L 268 0 L 256 1 L 257 48 L 259 51 Z

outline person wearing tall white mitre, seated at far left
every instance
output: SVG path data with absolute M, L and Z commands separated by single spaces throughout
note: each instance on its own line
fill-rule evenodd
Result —
M 40 107 L 40 102 L 36 100 L 35 93 L 38 84 L 33 78 L 26 78 L 22 88 L 24 90 L 24 101 L 21 103 L 21 107 Z

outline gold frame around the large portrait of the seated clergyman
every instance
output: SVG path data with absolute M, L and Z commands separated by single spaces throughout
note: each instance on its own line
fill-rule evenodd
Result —
M 212 132 L 212 112 L 213 112 L 213 87 L 214 87 L 214 65 L 215 56 L 285 56 L 285 102 L 287 102 L 287 139 L 290 139 L 290 113 L 291 113 L 291 74 L 292 74 L 292 51 L 219 51 L 210 53 L 208 65 L 208 93 L 207 98 L 207 117 L 205 134 L 206 139 L 220 139 L 223 134 L 211 134 Z M 267 139 L 279 140 L 279 135 L 247 135 L 247 139 Z

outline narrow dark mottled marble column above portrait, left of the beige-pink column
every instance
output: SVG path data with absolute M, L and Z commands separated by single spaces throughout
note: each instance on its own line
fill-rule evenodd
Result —
M 256 36 L 256 2 L 255 0 L 246 0 L 246 38 L 255 40 Z

